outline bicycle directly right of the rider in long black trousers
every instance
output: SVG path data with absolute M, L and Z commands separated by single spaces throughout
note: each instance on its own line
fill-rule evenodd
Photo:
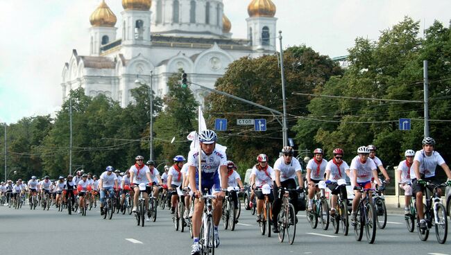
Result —
M 319 218 L 321 220 L 321 226 L 323 227 L 323 230 L 327 230 L 329 228 L 330 215 L 329 204 L 327 204 L 327 200 L 325 199 L 324 189 L 326 188 L 326 186 L 324 181 L 319 182 L 317 185 L 320 188 L 320 193 L 316 193 L 313 197 L 312 210 L 306 211 L 307 221 L 310 223 L 312 229 L 316 229 L 316 227 L 318 226 Z

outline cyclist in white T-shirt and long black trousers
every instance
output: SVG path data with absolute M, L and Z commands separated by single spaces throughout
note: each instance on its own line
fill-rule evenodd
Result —
M 282 148 L 282 157 L 279 157 L 274 163 L 275 186 L 273 186 L 274 204 L 273 204 L 273 232 L 278 233 L 278 216 L 280 207 L 282 207 L 282 197 L 279 197 L 279 188 L 296 188 L 295 178 L 298 177 L 298 192 L 304 191 L 304 180 L 302 176 L 302 168 L 298 159 L 293 157 L 294 150 L 290 146 Z M 282 193 L 281 193 L 282 194 Z M 298 194 L 291 192 L 290 203 L 294 208 L 298 208 Z M 296 211 L 297 213 L 297 211 Z M 297 219 L 297 218 L 295 218 Z

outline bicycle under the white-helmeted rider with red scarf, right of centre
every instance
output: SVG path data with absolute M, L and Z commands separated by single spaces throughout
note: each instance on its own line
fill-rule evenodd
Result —
M 371 193 L 373 193 L 373 188 L 355 188 L 356 191 L 362 194 L 360 198 L 359 205 L 357 206 L 357 211 L 355 214 L 355 239 L 360 241 L 364 234 L 364 229 L 366 233 L 366 240 L 368 243 L 374 243 L 376 238 L 376 227 L 375 221 L 376 211 L 373 202 L 368 198 Z

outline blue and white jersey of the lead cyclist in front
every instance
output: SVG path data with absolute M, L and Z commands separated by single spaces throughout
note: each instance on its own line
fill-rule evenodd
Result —
M 196 184 L 199 182 L 198 164 L 199 164 L 198 150 L 192 150 L 188 155 L 188 166 L 196 167 Z M 214 149 L 212 154 L 205 155 L 201 150 L 201 165 L 202 165 L 202 183 L 204 182 L 219 182 L 218 169 L 220 166 L 227 166 L 226 152 Z

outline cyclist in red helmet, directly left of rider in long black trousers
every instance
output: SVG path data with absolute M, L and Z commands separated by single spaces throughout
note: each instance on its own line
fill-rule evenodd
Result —
M 274 170 L 269 166 L 268 156 L 265 154 L 258 155 L 257 162 L 258 163 L 253 166 L 250 172 L 250 192 L 252 193 L 252 198 L 253 196 L 257 196 L 257 222 L 260 222 L 262 221 L 264 194 L 262 191 L 257 191 L 257 188 L 262 188 L 264 184 L 269 184 L 271 188 L 273 187 L 273 179 L 271 176 L 274 175 Z M 252 201 L 252 199 L 250 201 Z M 269 193 L 269 202 L 273 201 L 274 194 Z

